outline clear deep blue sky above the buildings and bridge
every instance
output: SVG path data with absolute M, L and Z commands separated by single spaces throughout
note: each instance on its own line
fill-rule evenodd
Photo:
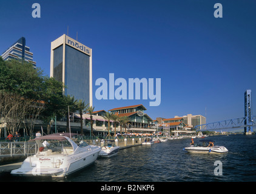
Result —
M 41 18 L 32 18 L 32 4 Z M 214 4 L 223 18 L 214 18 Z M 1 1 L 0 52 L 24 36 L 50 74 L 50 42 L 64 33 L 92 48 L 93 106 L 143 104 L 152 118 L 207 114 L 207 122 L 244 116 L 244 91 L 256 101 L 255 1 Z M 161 104 L 97 100 L 98 78 L 161 78 Z M 254 105 L 254 103 L 252 104 Z M 207 110 L 207 111 L 206 111 Z M 252 107 L 254 110 L 254 107 Z M 255 115 L 255 114 L 253 114 Z

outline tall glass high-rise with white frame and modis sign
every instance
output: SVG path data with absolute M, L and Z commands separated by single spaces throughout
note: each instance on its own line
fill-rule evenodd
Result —
M 63 82 L 64 95 L 92 105 L 92 49 L 67 35 L 51 43 L 50 76 Z

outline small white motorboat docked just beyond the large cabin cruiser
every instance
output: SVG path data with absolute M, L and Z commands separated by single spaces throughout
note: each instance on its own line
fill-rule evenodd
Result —
M 114 141 L 110 141 L 110 140 L 101 142 L 103 143 L 103 146 L 101 147 L 101 152 L 99 152 L 99 156 L 103 158 L 109 158 L 111 156 L 117 155 L 120 147 L 115 146 L 113 142 Z

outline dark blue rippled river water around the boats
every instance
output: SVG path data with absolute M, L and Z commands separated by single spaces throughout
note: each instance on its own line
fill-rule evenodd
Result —
M 166 182 L 166 181 L 256 181 L 256 135 L 209 136 L 217 146 L 225 146 L 223 154 L 187 153 L 190 139 L 176 139 L 150 146 L 120 150 L 112 158 L 101 158 L 90 167 L 64 179 L 21 178 L 9 173 L 2 181 L 65 182 Z M 196 138 L 195 143 L 200 139 Z M 222 163 L 222 175 L 215 175 L 214 162 Z

